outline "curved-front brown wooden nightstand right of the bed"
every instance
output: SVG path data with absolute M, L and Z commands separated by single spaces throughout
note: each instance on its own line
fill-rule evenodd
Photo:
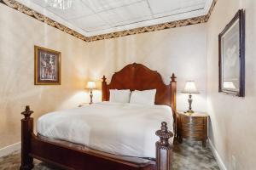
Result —
M 177 111 L 177 138 L 180 143 L 185 139 L 200 140 L 203 147 L 207 145 L 208 138 L 207 113 L 195 112 L 193 114 Z

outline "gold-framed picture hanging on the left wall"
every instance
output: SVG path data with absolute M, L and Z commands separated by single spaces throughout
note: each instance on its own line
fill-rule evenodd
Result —
M 35 46 L 35 85 L 61 84 L 61 52 Z

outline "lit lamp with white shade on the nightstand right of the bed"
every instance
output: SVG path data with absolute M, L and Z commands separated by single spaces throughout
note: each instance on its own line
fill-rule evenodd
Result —
M 185 84 L 185 87 L 182 91 L 182 93 L 184 94 L 189 94 L 189 110 L 186 111 L 185 113 L 194 113 L 194 111 L 192 110 L 192 94 L 199 94 L 197 88 L 195 87 L 195 81 L 187 81 L 186 84 Z

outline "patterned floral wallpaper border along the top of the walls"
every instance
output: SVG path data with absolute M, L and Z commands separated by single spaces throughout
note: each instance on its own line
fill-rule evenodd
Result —
M 203 16 L 199 16 L 199 17 L 195 17 L 195 18 L 191 18 L 191 19 L 186 19 L 186 20 L 177 20 L 177 21 L 172 21 L 172 22 L 166 22 L 166 23 L 154 25 L 154 26 L 144 26 L 144 27 L 134 28 L 131 30 L 126 30 L 126 31 L 116 31 L 116 32 L 92 36 L 92 37 L 85 37 L 84 35 L 80 34 L 79 32 L 73 31 L 72 29 L 68 28 L 67 26 L 63 26 L 60 23 L 56 22 L 55 20 L 51 20 L 47 16 L 44 16 L 44 14 L 39 14 L 38 12 L 34 11 L 32 8 L 27 8 L 25 5 L 18 3 L 15 0 L 0 0 L 0 3 L 3 3 L 10 8 L 15 8 L 16 10 L 20 11 L 21 13 L 27 14 L 27 15 L 35 18 L 36 20 L 40 20 L 40 21 L 44 22 L 45 24 L 47 24 L 49 26 L 53 26 L 61 31 L 64 31 L 67 34 L 72 35 L 73 37 L 77 37 L 77 38 L 83 40 L 84 42 L 94 42 L 94 41 L 110 39 L 110 38 L 114 38 L 114 37 L 125 37 L 125 36 L 129 36 L 129 35 L 140 34 L 140 33 L 145 33 L 145 32 L 160 31 L 160 30 L 165 30 L 165 29 L 170 29 L 170 28 L 175 28 L 175 27 L 180 27 L 180 26 L 189 26 L 189 25 L 206 23 L 212 14 L 213 8 L 214 8 L 215 4 L 217 3 L 217 0 L 213 0 L 212 6 L 207 15 L 203 15 Z

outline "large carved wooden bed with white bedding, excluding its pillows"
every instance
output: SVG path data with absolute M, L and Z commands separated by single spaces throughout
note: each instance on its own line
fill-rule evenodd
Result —
M 65 169 L 172 169 L 170 130 L 177 135 L 175 78 L 172 75 L 166 85 L 157 71 L 136 63 L 126 65 L 109 84 L 102 78 L 101 103 L 41 116 L 37 134 L 33 111 L 26 106 L 20 169 L 32 169 L 33 158 Z M 111 89 L 156 89 L 155 105 L 109 102 Z

